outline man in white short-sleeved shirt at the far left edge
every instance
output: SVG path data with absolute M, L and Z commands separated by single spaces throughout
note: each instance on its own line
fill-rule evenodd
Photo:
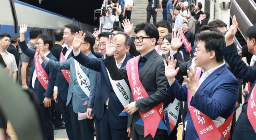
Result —
M 8 33 L 0 34 L 0 53 L 3 56 L 6 65 L 8 65 L 8 67 L 10 68 L 8 76 L 16 81 L 18 71 L 16 60 L 13 54 L 6 51 L 6 49 L 10 45 L 10 38 L 11 36 Z

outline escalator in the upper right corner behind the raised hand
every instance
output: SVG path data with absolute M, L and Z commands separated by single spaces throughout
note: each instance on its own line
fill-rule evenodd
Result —
M 232 17 L 236 15 L 238 22 L 238 32 L 234 40 L 236 41 L 237 49 L 241 50 L 242 46 L 246 44 L 246 30 L 256 23 L 256 4 L 253 0 L 231 0 L 232 6 L 230 9 L 230 25 L 232 24 Z

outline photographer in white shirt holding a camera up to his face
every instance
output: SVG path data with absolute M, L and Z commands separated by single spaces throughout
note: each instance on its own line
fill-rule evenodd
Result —
M 116 20 L 116 16 L 112 15 L 112 7 L 108 6 L 107 10 L 102 9 L 101 11 L 101 23 L 103 24 L 102 32 L 111 32 L 114 22 Z

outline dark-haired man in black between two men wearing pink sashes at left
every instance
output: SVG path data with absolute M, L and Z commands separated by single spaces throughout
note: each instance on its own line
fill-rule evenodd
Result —
M 58 59 L 58 61 L 60 61 L 60 52 L 63 49 L 63 47 L 62 47 L 62 44 L 64 42 L 63 31 L 64 30 L 55 30 L 54 31 L 55 43 L 52 46 L 51 52 L 52 52 L 52 55 Z

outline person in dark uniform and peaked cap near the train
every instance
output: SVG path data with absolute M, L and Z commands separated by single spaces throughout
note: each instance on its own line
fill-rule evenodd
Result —
M 10 46 L 7 48 L 7 52 L 10 52 L 11 54 L 14 55 L 15 57 L 15 60 L 16 60 L 16 64 L 17 64 L 17 67 L 19 66 L 19 61 L 20 61 L 20 52 L 18 52 L 18 41 L 19 41 L 19 38 L 20 38 L 20 34 L 12 34 L 11 35 L 12 37 L 10 38 L 11 40 L 11 44 Z

